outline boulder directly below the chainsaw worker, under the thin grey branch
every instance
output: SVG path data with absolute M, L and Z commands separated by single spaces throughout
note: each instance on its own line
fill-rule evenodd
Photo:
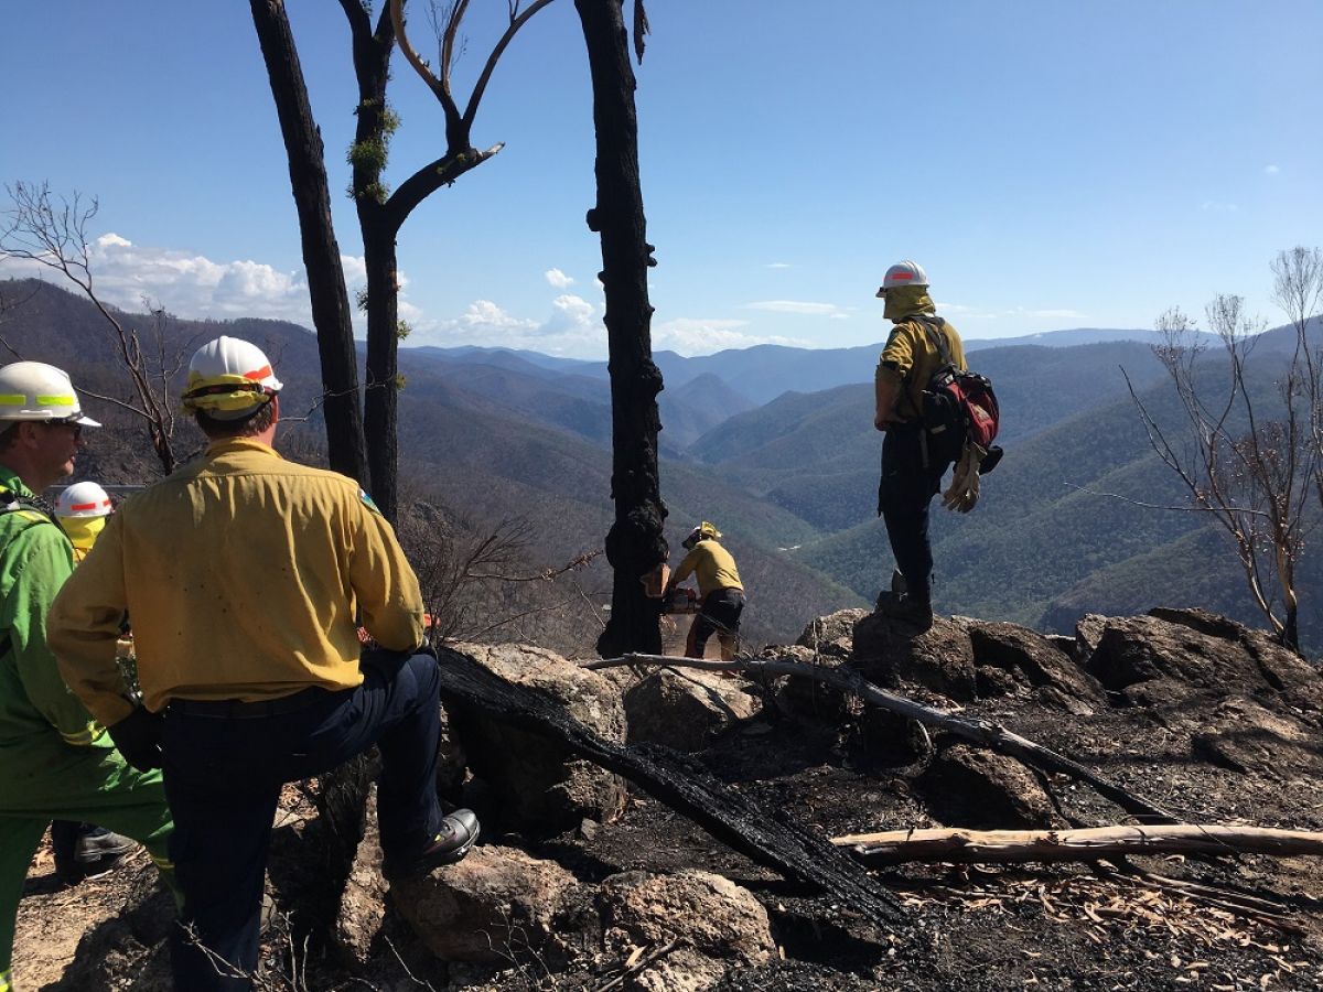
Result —
M 744 679 L 695 668 L 659 668 L 624 693 L 628 742 L 700 751 L 724 730 L 762 709 Z

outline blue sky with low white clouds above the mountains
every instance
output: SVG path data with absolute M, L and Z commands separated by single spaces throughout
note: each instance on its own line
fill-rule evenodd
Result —
M 333 0 L 287 5 L 352 290 L 348 29 Z M 471 5 L 462 94 L 505 13 L 504 0 Z M 413 7 L 426 52 L 426 4 Z M 970 339 L 1151 327 L 1218 292 L 1278 324 L 1269 262 L 1323 243 L 1316 0 L 651 0 L 648 16 L 635 71 L 656 349 L 880 341 L 873 291 L 901 258 L 927 269 Z M 9 3 L 0 33 L 0 180 L 99 198 L 108 299 L 310 323 L 247 4 Z M 398 183 L 443 142 L 402 60 L 392 87 Z M 497 142 L 401 233 L 409 344 L 603 357 L 572 0 L 537 15 L 497 67 L 474 143 Z

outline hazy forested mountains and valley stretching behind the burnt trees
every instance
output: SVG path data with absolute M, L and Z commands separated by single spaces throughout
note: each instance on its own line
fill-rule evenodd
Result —
M 86 302 L 40 283 L 0 286 L 11 298 L 30 295 L 0 325 L 11 349 L 114 392 L 99 316 Z M 127 319 L 148 327 L 147 317 Z M 286 415 L 312 411 L 299 443 L 316 436 L 311 332 L 267 320 L 172 320 L 169 333 L 179 343 L 232 333 L 267 348 L 287 384 Z M 1289 339 L 1286 329 L 1259 339 L 1254 360 L 1269 378 Z M 1138 505 L 1184 501 L 1148 446 L 1126 384 L 1129 376 L 1152 409 L 1170 407 L 1152 340 L 1142 331 L 1076 329 L 968 343 L 970 364 L 992 378 L 1002 399 L 1007 458 L 984 480 L 974 513 L 934 508 L 941 610 L 1069 630 L 1088 611 L 1197 604 L 1258 623 L 1233 557 L 1205 518 Z M 871 382 L 880 347 L 655 356 L 665 378 L 659 403 L 671 546 L 699 520 L 726 533 L 749 589 L 754 640 L 791 640 L 812 616 L 865 604 L 890 574 L 876 518 L 881 439 L 872 429 Z M 602 546 L 614 516 L 605 362 L 503 348 L 405 348 L 400 365 L 409 492 L 478 528 L 527 521 L 531 553 L 545 565 Z M 144 481 L 151 462 L 130 454 L 131 425 L 111 407 L 97 409 L 126 447 L 98 442 L 85 471 L 103 481 Z M 294 443 L 298 425 L 291 430 Z M 582 582 L 595 590 L 586 599 L 601 603 L 609 577 L 594 567 Z M 1302 626 L 1319 643 L 1323 603 L 1314 590 L 1323 590 L 1323 556 L 1312 554 L 1303 574 Z M 587 614 L 581 620 L 593 623 Z

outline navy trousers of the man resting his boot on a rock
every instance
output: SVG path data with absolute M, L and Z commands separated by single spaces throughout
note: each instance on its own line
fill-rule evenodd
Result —
M 171 948 L 175 988 L 251 988 L 267 847 L 284 783 L 377 745 L 384 853 L 409 858 L 441 829 L 437 659 L 380 652 L 364 659 L 363 673 L 356 689 L 306 689 L 273 704 L 288 712 L 187 701 L 167 708 L 169 853 L 184 893 Z

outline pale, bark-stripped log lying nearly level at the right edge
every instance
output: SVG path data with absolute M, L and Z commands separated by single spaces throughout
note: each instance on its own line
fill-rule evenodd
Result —
M 1269 827 L 1176 824 L 1072 831 L 968 831 L 938 827 L 832 837 L 860 862 L 1094 861 L 1106 854 L 1323 854 L 1323 833 Z

